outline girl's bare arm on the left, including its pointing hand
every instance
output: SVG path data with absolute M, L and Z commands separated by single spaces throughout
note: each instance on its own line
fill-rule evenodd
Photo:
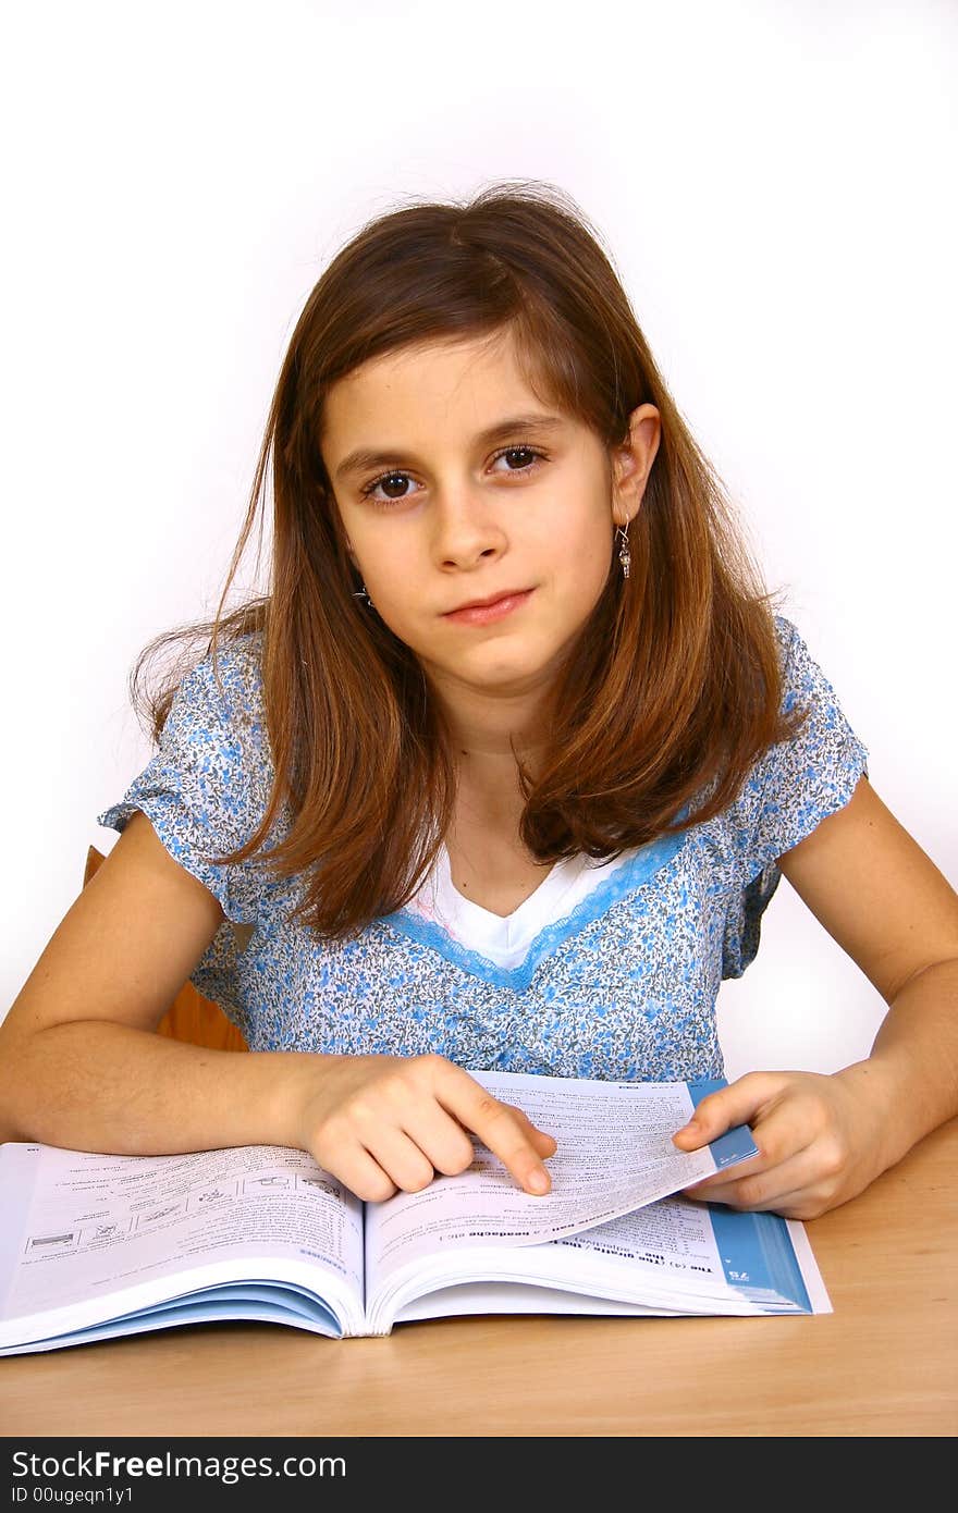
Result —
M 522 1186 L 548 1189 L 555 1141 L 440 1056 L 238 1055 L 157 1035 L 222 920 L 135 812 L 0 1023 L 0 1141 L 289 1145 L 380 1200 L 463 1171 L 474 1130 Z

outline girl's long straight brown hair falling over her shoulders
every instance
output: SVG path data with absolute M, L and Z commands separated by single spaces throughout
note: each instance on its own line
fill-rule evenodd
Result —
M 262 634 L 275 778 L 256 832 L 216 859 L 259 856 L 289 805 L 292 825 L 271 844 L 268 865 L 275 876 L 303 875 L 297 914 L 328 940 L 413 896 L 446 834 L 456 772 L 418 658 L 354 596 L 359 579 L 319 452 L 324 401 L 383 353 L 505 330 L 537 398 L 580 418 L 605 446 L 627 442 L 637 405 L 651 402 L 661 418 L 630 527 L 630 576 L 613 554 L 552 690 L 545 761 L 534 779 L 519 764 L 521 838 L 531 855 L 616 856 L 711 819 L 804 714 L 779 713 L 773 595 L 666 389 L 611 256 L 569 195 L 509 182 L 463 204 L 413 201 L 371 219 L 330 262 L 294 330 L 216 617 L 156 637 L 130 679 L 159 740 L 185 667 L 142 697 L 147 660 L 203 635 L 215 666 L 221 643 Z M 269 466 L 269 593 L 227 614 Z

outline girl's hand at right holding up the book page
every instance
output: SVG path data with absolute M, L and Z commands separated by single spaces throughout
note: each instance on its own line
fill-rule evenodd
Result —
M 758 1154 L 686 1188 L 690 1198 L 732 1209 L 773 1209 L 813 1219 L 857 1197 L 891 1162 L 882 1151 L 888 1108 L 870 1062 L 822 1076 L 749 1071 L 702 1098 L 672 1139 L 698 1150 L 748 1124 Z

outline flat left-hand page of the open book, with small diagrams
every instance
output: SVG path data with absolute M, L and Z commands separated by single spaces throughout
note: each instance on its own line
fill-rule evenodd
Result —
M 132 1307 L 144 1285 L 151 1301 L 210 1275 L 309 1271 L 313 1289 L 325 1274 L 334 1292 L 362 1297 L 362 1203 L 300 1150 L 107 1156 L 8 1144 L 0 1186 L 0 1321 L 71 1304 L 91 1312 L 91 1300 L 120 1294 Z M 283 1257 L 298 1265 L 283 1269 Z

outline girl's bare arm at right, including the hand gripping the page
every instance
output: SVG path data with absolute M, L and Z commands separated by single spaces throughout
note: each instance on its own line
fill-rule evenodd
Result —
M 689 1194 L 807 1219 L 958 1114 L 958 894 L 867 778 L 779 867 L 888 1012 L 866 1061 L 832 1076 L 748 1073 L 702 1098 L 675 1142 L 695 1150 L 751 1124 L 760 1154 Z

